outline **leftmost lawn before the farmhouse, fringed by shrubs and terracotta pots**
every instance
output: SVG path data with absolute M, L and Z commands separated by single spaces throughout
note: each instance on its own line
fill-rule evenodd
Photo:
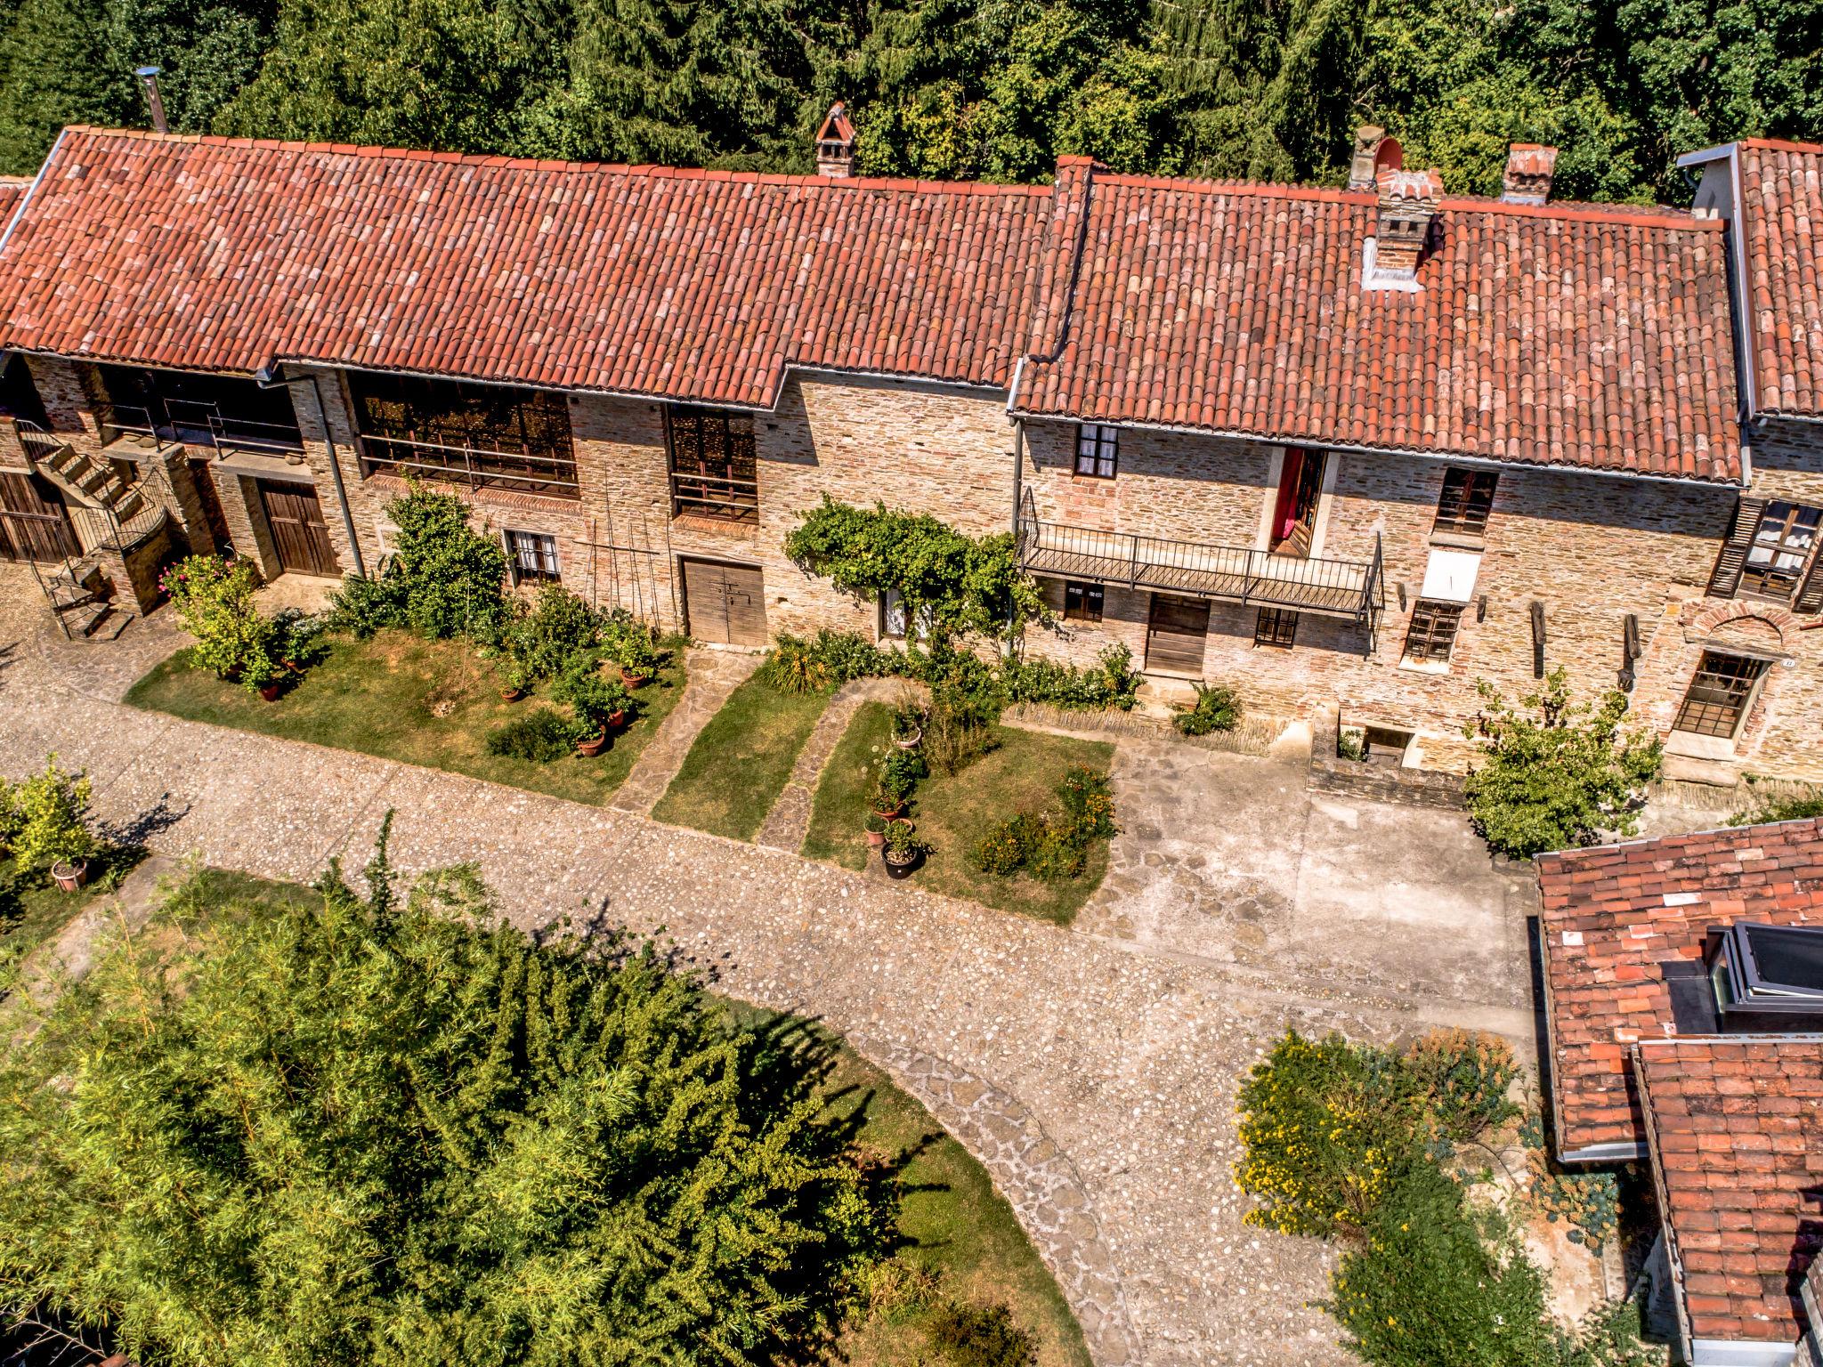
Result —
M 543 685 L 540 687 L 543 693 Z M 186 653 L 157 665 L 126 694 L 135 707 L 263 731 L 288 740 L 423 764 L 534 793 L 605 802 L 625 780 L 664 716 L 684 693 L 684 651 L 636 696 L 642 716 L 602 756 L 551 764 L 487 753 L 487 733 L 540 705 L 538 694 L 501 702 L 500 678 L 467 642 L 428 642 L 405 631 L 372 640 L 330 638 L 328 656 L 277 702 L 191 669 Z

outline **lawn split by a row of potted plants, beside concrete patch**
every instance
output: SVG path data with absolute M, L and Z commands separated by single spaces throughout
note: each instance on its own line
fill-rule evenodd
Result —
M 891 709 L 862 704 L 829 756 L 811 809 L 804 855 L 850 869 L 868 866 L 866 818 L 873 793 L 873 760 L 891 744 Z M 912 806 L 919 838 L 932 846 L 912 882 L 948 897 L 966 897 L 1001 911 L 1056 920 L 1068 926 L 1108 871 L 1108 848 L 1097 840 L 1088 851 L 1083 877 L 1068 882 L 1037 882 L 1023 873 L 1010 879 L 981 873 L 968 862 L 970 846 L 995 822 L 1021 809 L 1043 811 L 1056 804 L 1065 769 L 1087 764 L 1108 771 L 1114 745 L 1076 740 L 1043 731 L 995 727 L 999 749 L 983 755 L 959 775 L 932 773 L 919 784 Z M 1116 813 L 1116 818 L 1119 813 Z

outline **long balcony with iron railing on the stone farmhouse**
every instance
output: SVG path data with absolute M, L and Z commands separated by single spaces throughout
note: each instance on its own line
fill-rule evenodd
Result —
M 1316 612 L 1367 627 L 1380 616 L 1385 587 L 1378 534 L 1371 560 L 1280 556 L 1045 521 L 1030 488 L 1019 510 L 1017 549 L 1028 574 Z

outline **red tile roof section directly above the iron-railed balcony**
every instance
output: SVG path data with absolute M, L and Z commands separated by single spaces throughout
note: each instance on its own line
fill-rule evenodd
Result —
M 1723 228 L 1444 199 L 1362 290 L 1371 193 L 1097 173 L 1068 341 L 1015 408 L 1737 481 Z

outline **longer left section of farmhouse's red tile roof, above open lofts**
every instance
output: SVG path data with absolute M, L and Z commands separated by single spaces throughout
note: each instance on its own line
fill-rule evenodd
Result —
M 1004 386 L 1052 190 L 73 128 L 0 346 L 771 405 L 791 363 Z

